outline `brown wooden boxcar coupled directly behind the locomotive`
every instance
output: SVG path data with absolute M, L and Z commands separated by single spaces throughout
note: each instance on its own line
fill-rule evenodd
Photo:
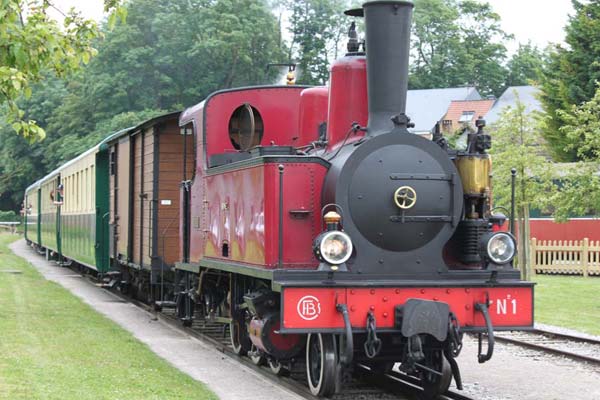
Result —
M 179 128 L 179 114 L 145 121 L 108 141 L 111 258 L 139 292 L 179 259 L 182 161 L 187 154 L 188 174 L 194 161 L 193 139 Z

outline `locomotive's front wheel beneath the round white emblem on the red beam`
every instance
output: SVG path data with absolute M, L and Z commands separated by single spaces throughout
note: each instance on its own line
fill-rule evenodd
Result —
M 337 375 L 335 337 L 321 333 L 309 334 L 306 340 L 306 377 L 311 393 L 323 397 L 333 395 Z

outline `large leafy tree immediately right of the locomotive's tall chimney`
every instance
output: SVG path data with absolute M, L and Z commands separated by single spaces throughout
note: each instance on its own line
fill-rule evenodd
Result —
M 411 89 L 462 85 L 499 96 L 508 39 L 489 4 L 471 0 L 416 0 Z

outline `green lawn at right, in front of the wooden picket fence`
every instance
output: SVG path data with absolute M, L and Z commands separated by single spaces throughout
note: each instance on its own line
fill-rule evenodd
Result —
M 600 277 L 536 275 L 535 320 L 600 335 Z

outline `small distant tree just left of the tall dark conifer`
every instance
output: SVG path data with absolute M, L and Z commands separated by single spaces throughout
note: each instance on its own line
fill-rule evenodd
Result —
M 539 80 L 543 68 L 544 54 L 531 43 L 519 44 L 506 67 L 506 87 L 531 85 Z

